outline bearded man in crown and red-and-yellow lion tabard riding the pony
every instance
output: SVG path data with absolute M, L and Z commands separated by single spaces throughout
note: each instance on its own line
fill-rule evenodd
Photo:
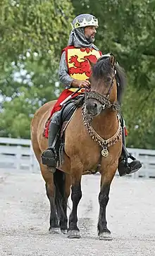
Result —
M 73 95 L 77 88 L 80 87 L 80 90 L 74 94 L 74 97 L 82 94 L 85 92 L 85 88 L 91 86 L 89 83 L 91 75 L 89 61 L 96 63 L 102 56 L 101 51 L 94 45 L 94 37 L 98 26 L 96 17 L 91 14 L 80 14 L 73 20 L 73 30 L 70 32 L 68 46 L 62 50 L 59 63 L 59 80 L 66 86 L 66 89 L 58 97 L 51 111 L 51 119 L 48 130 L 46 130 L 49 147 L 42 153 L 42 163 L 48 166 L 56 167 L 58 160 L 56 137 L 60 134 L 61 103 L 70 95 Z M 132 159 L 130 163 L 128 163 L 129 158 Z M 123 127 L 123 149 L 118 161 L 118 172 L 120 176 L 124 176 L 138 171 L 141 166 L 140 161 L 132 157 L 126 150 L 125 128 Z

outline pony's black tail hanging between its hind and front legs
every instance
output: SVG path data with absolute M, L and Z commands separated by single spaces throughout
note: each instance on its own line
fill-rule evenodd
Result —
M 55 203 L 58 219 L 66 218 L 67 201 L 65 193 L 65 173 L 56 169 L 54 173 L 54 185 L 56 187 Z

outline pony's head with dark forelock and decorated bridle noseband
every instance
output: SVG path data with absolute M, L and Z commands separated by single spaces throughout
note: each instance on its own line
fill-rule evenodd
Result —
M 86 109 L 87 114 L 98 116 L 102 110 L 121 102 L 125 87 L 125 73 L 118 66 L 113 54 L 106 54 L 92 64 L 90 77 L 91 91 L 88 93 Z

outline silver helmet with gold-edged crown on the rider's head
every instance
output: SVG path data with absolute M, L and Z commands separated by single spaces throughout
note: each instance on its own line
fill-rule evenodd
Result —
M 87 26 L 95 26 L 96 28 L 99 27 L 98 20 L 92 14 L 80 14 L 71 23 L 72 28 L 84 28 Z

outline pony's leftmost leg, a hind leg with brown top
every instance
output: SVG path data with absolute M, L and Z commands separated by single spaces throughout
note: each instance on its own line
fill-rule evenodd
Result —
M 45 187 L 46 187 L 46 195 L 49 198 L 50 202 L 50 219 L 49 219 L 49 231 L 55 232 L 59 228 L 58 225 L 58 215 L 56 211 L 56 204 L 55 204 L 55 185 L 54 185 L 54 176 L 53 173 L 51 173 L 47 166 L 40 164 L 40 169 L 42 171 L 42 176 L 45 181 Z

